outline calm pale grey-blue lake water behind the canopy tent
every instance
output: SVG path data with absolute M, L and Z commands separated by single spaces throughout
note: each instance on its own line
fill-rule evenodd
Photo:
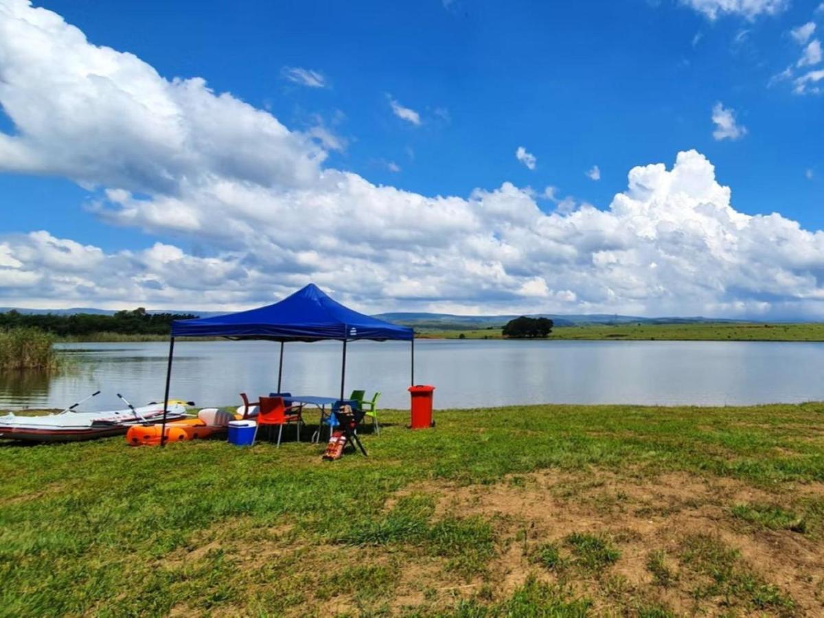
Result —
M 87 405 L 160 400 L 168 344 L 63 344 L 77 370 L 57 377 L 0 374 L 0 408 L 63 407 L 101 389 Z M 286 344 L 283 390 L 335 396 L 338 342 Z M 276 390 L 279 344 L 176 342 L 171 396 L 199 406 L 240 404 Z M 748 405 L 824 400 L 824 344 L 714 341 L 506 341 L 419 339 L 415 382 L 436 386 L 436 408 L 534 403 Z M 410 345 L 349 343 L 346 391 L 382 391 L 405 408 Z

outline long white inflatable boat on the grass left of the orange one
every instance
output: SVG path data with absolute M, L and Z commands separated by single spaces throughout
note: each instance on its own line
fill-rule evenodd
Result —
M 185 401 L 170 400 L 166 421 L 185 418 Z M 73 442 L 126 433 L 134 424 L 157 421 L 163 417 L 163 404 L 105 412 L 75 412 L 72 408 L 44 416 L 0 416 L 0 439 L 29 442 Z

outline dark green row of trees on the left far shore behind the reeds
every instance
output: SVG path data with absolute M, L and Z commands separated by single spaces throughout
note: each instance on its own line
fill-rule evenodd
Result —
M 120 335 L 168 335 L 173 320 L 189 320 L 197 316 L 178 313 L 147 313 L 143 307 L 133 311 L 117 311 L 113 316 L 75 313 L 63 316 L 54 313 L 29 314 L 19 311 L 0 313 L 0 330 L 37 329 L 58 337 L 93 335 L 107 332 Z

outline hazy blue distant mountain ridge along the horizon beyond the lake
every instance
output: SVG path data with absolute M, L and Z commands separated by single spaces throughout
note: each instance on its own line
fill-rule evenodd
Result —
M 20 307 L 0 307 L 0 313 L 6 311 L 20 311 L 21 313 L 47 314 L 57 316 L 71 316 L 76 313 L 91 313 L 98 316 L 112 316 L 114 309 L 96 309 L 93 307 L 73 307 L 71 309 L 26 309 Z M 183 309 L 147 309 L 147 313 L 185 313 L 200 317 L 220 316 L 227 311 L 190 311 Z M 741 323 L 751 320 L 728 320 L 723 318 L 694 317 L 641 317 L 620 316 L 607 313 L 528 313 L 509 314 L 501 316 L 458 316 L 452 313 L 426 313 L 415 311 L 393 311 L 378 313 L 375 317 L 381 320 L 394 322 L 405 326 L 414 326 L 419 329 L 430 330 L 472 330 L 479 328 L 502 328 L 508 321 L 522 315 L 529 317 L 548 317 L 556 326 L 586 326 L 586 325 L 616 325 L 631 324 L 700 324 L 704 322 Z

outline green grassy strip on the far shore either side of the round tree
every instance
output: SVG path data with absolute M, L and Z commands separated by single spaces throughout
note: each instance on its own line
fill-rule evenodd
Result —
M 433 339 L 502 339 L 500 329 L 424 330 L 419 336 Z M 606 339 L 617 341 L 824 341 L 824 323 L 804 324 L 706 324 L 561 326 L 548 339 Z

